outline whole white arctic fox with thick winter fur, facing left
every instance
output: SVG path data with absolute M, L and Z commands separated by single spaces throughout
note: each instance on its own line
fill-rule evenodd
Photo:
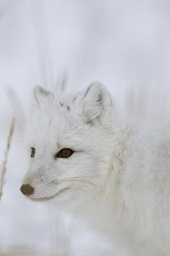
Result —
M 94 82 L 63 99 L 35 86 L 27 132 L 24 195 L 86 219 L 127 255 L 170 255 L 169 125 L 125 118 Z

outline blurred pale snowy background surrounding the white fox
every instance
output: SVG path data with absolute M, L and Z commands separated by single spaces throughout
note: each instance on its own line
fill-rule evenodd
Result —
M 66 92 L 98 80 L 126 108 L 169 118 L 169 45 L 169 0 L 0 1 L 1 169 L 16 117 L 0 201 L 0 255 L 125 255 L 69 214 L 25 200 L 25 116 L 34 84 L 59 90 L 64 79 Z

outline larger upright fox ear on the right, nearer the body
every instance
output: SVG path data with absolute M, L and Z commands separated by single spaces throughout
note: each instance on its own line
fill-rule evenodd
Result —
M 81 101 L 83 114 L 87 123 L 95 123 L 97 120 L 104 121 L 111 111 L 111 97 L 104 85 L 100 82 L 90 84 Z

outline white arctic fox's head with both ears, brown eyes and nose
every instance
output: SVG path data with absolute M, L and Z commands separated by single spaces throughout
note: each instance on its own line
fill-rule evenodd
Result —
M 113 154 L 112 102 L 103 84 L 61 100 L 35 86 L 27 127 L 31 164 L 21 191 L 31 200 L 77 200 L 106 182 Z

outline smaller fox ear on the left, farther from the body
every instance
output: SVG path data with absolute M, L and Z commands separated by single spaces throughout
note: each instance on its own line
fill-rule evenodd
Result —
M 48 103 L 53 102 L 53 93 L 46 91 L 43 87 L 36 85 L 33 88 L 33 99 L 32 104 L 33 106 L 42 108 Z

